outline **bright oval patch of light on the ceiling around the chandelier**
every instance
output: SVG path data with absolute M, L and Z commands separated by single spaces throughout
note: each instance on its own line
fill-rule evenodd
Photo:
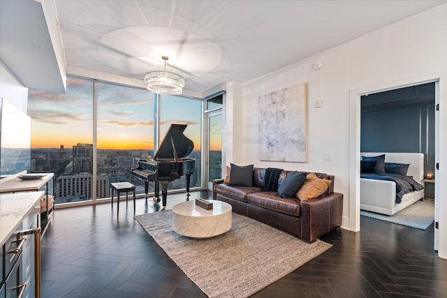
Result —
M 215 70 L 222 61 L 219 45 L 195 33 L 180 29 L 138 26 L 105 34 L 98 43 L 104 63 L 124 73 L 138 76 L 149 66 L 162 66 L 161 57 L 169 57 L 169 66 L 185 78 L 201 77 Z

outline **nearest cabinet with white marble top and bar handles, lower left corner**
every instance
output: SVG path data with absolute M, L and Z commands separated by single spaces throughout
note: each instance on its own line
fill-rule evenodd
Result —
M 0 194 L 0 297 L 40 297 L 43 191 Z

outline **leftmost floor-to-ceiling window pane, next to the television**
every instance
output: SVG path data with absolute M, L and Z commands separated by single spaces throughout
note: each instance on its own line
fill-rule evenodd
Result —
M 54 172 L 54 202 L 91 200 L 93 81 L 67 77 L 66 94 L 29 89 L 31 172 Z

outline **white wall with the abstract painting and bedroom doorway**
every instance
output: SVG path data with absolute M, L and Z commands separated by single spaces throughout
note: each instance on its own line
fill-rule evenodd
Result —
M 360 174 L 360 114 L 356 113 L 360 110 L 357 105 L 359 94 L 439 80 L 441 104 L 446 103 L 447 107 L 446 15 L 447 4 L 437 6 L 245 83 L 242 116 L 226 117 L 234 121 L 233 127 L 239 128 L 242 123 L 243 134 L 227 131 L 226 142 L 241 144 L 244 149 L 242 164 L 334 174 L 335 191 L 344 194 L 343 227 L 358 230 L 360 204 L 356 194 Z M 314 70 L 316 61 L 323 61 L 323 68 Z M 307 163 L 259 161 L 258 96 L 300 82 L 308 83 Z M 230 89 L 227 87 L 228 102 L 232 101 L 228 98 Z M 323 106 L 312 108 L 311 103 L 317 98 L 323 98 Z M 441 108 L 440 113 L 442 132 L 447 130 L 447 108 Z M 440 148 L 447 148 L 447 134 L 444 135 L 439 136 Z M 323 161 L 324 153 L 332 153 L 332 161 Z M 437 175 L 437 180 L 441 180 L 447 177 L 447 155 L 437 158 L 441 165 L 446 165 Z M 227 159 L 227 164 L 230 162 Z M 447 197 L 446 184 L 439 184 L 439 188 L 440 196 Z M 447 214 L 447 202 L 439 200 L 437 207 L 441 214 Z M 440 239 L 446 239 L 444 243 L 441 240 L 439 256 L 447 258 L 447 220 L 443 221 L 442 216 L 439 225 Z

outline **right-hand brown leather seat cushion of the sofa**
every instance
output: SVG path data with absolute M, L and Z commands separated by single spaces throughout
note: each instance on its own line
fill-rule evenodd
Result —
M 300 215 L 300 200 L 297 198 L 281 198 L 276 191 L 249 193 L 247 203 L 291 216 Z

